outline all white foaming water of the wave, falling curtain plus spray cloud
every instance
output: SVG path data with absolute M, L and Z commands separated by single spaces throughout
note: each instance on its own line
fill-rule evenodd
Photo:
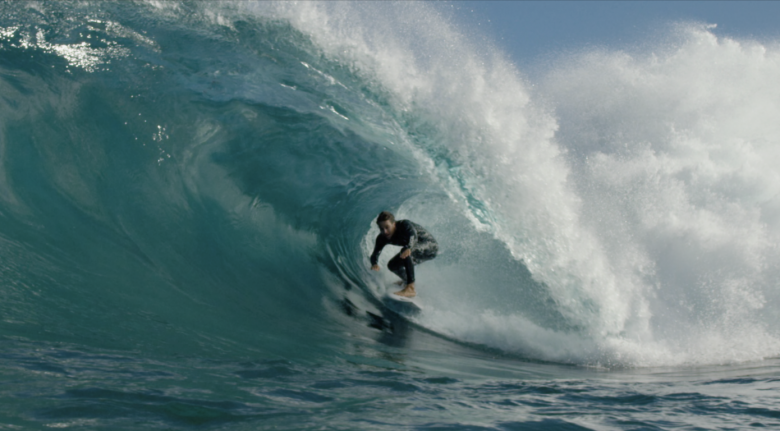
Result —
M 429 5 L 247 7 L 289 20 L 387 91 L 397 118 L 436 131 L 391 142 L 452 199 L 399 211 L 449 246 L 420 270 L 436 280 L 423 325 L 576 363 L 780 354 L 777 45 L 683 25 L 634 52 L 560 57 L 529 83 Z M 535 287 L 506 275 L 519 262 Z M 532 288 L 576 330 L 517 311 Z

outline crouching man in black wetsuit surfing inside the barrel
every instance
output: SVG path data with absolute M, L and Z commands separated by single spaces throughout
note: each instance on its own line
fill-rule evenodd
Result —
M 387 269 L 401 277 L 400 284 L 406 282 L 406 286 L 398 292 L 398 296 L 413 298 L 414 291 L 414 265 L 436 257 L 439 252 L 439 244 L 433 235 L 422 226 L 409 220 L 395 220 L 395 216 L 388 211 L 382 211 L 376 218 L 380 234 L 376 237 L 374 252 L 371 253 L 371 269 L 379 271 L 379 253 L 387 244 L 400 245 L 401 252 L 387 262 Z

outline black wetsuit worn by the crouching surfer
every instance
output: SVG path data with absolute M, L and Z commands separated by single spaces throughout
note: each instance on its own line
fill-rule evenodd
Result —
M 433 259 L 439 252 L 439 244 L 433 235 L 409 220 L 396 221 L 395 232 L 390 239 L 381 233 L 377 235 L 374 252 L 371 253 L 371 265 L 377 264 L 379 253 L 387 244 L 400 245 L 401 252 L 406 249 L 412 250 L 408 258 L 401 259 L 401 253 L 398 253 L 387 263 L 387 268 L 407 284 L 414 283 L 414 265 Z

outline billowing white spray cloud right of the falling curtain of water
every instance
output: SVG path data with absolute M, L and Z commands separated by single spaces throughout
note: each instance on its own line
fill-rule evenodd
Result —
M 651 363 L 780 352 L 778 73 L 777 45 L 689 25 L 640 52 L 561 59 L 542 82 L 578 219 L 625 292 L 597 292 L 628 312 L 626 335 L 606 340 L 617 351 Z

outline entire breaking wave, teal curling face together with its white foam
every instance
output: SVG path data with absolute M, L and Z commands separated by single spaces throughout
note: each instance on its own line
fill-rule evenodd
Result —
M 338 305 L 375 310 L 390 281 L 367 260 L 389 209 L 440 241 L 415 324 L 450 340 L 780 353 L 777 45 L 686 25 L 529 83 L 428 4 L 0 16 L 0 335 L 338 355 L 362 325 Z

